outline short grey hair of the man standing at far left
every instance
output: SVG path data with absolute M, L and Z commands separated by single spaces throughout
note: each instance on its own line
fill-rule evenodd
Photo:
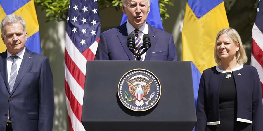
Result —
M 14 24 L 14 23 L 18 23 L 20 22 L 23 26 L 23 31 L 24 33 L 26 33 L 26 26 L 25 26 L 25 20 L 15 14 L 10 14 L 7 15 L 6 17 L 4 17 L 4 19 L 2 20 L 1 24 L 0 24 L 0 29 L 1 29 L 1 33 L 2 35 L 4 35 L 4 30 L 5 30 L 5 26 L 8 24 Z

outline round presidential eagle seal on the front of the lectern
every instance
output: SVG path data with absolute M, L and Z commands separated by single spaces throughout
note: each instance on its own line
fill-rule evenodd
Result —
M 148 70 L 130 70 L 120 79 L 118 96 L 125 107 L 133 111 L 146 111 L 159 101 L 161 85 L 158 78 Z

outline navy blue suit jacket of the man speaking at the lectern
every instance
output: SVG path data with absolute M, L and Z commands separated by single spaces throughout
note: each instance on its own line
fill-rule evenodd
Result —
M 126 46 L 128 36 L 126 23 L 101 34 L 95 60 L 134 60 L 133 54 Z M 146 52 L 145 60 L 177 60 L 172 35 L 147 24 L 151 47 Z

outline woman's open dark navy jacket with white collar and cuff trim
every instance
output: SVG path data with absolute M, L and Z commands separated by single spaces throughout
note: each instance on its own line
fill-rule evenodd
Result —
M 205 131 L 206 125 L 219 124 L 219 91 L 224 74 L 216 67 L 204 70 L 198 91 L 195 131 Z M 254 131 L 262 131 L 262 92 L 256 68 L 244 65 L 233 71 L 233 76 L 237 96 L 236 121 L 252 123 Z

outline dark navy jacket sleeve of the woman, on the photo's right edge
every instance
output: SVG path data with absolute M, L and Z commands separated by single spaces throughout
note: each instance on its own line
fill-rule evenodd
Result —
M 262 91 L 259 75 L 256 68 L 254 68 L 254 87 L 253 87 L 253 96 L 252 96 L 252 124 L 254 131 L 263 130 L 263 106 L 262 106 Z

